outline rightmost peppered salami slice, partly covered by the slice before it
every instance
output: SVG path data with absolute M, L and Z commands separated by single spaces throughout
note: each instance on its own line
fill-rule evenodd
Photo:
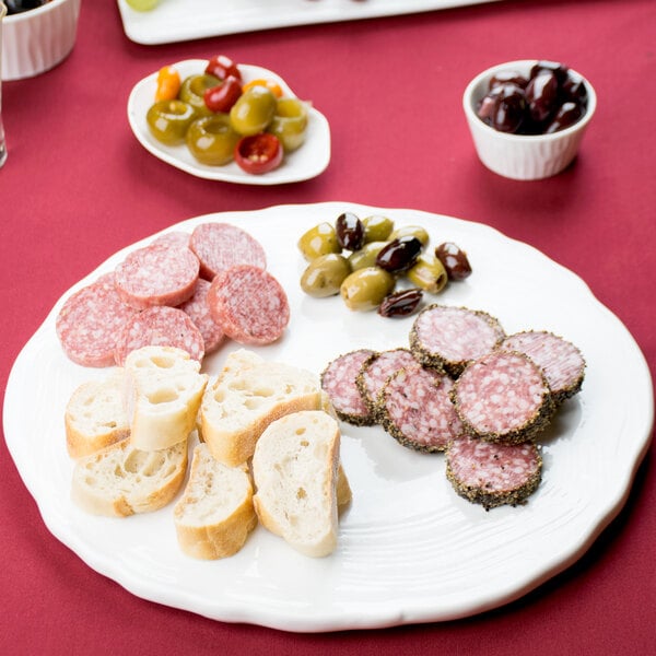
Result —
M 555 403 L 581 390 L 585 360 L 581 351 L 562 337 L 546 330 L 527 330 L 506 337 L 501 349 L 525 353 L 541 367 Z

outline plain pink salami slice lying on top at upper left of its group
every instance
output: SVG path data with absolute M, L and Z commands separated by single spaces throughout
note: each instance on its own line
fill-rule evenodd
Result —
M 198 258 L 189 248 L 151 244 L 130 253 L 116 268 L 116 289 L 137 309 L 179 305 L 194 294 Z

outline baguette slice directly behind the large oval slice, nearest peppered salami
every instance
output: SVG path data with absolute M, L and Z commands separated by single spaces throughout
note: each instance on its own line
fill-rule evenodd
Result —
M 319 410 L 325 402 L 317 375 L 239 349 L 227 356 L 204 393 L 201 438 L 220 462 L 242 465 L 272 421 L 290 412 Z

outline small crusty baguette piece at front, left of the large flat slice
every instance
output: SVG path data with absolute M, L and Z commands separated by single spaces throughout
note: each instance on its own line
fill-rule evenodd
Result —
M 207 444 L 194 449 L 189 480 L 173 518 L 181 550 L 218 560 L 235 554 L 257 526 L 253 484 L 246 467 L 227 467 Z

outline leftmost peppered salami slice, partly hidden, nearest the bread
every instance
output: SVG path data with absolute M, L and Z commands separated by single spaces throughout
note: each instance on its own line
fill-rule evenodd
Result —
M 321 374 L 321 388 L 330 397 L 335 412 L 342 421 L 356 426 L 371 426 L 375 418 L 358 388 L 363 364 L 374 355 L 370 349 L 344 353 L 328 364 Z

